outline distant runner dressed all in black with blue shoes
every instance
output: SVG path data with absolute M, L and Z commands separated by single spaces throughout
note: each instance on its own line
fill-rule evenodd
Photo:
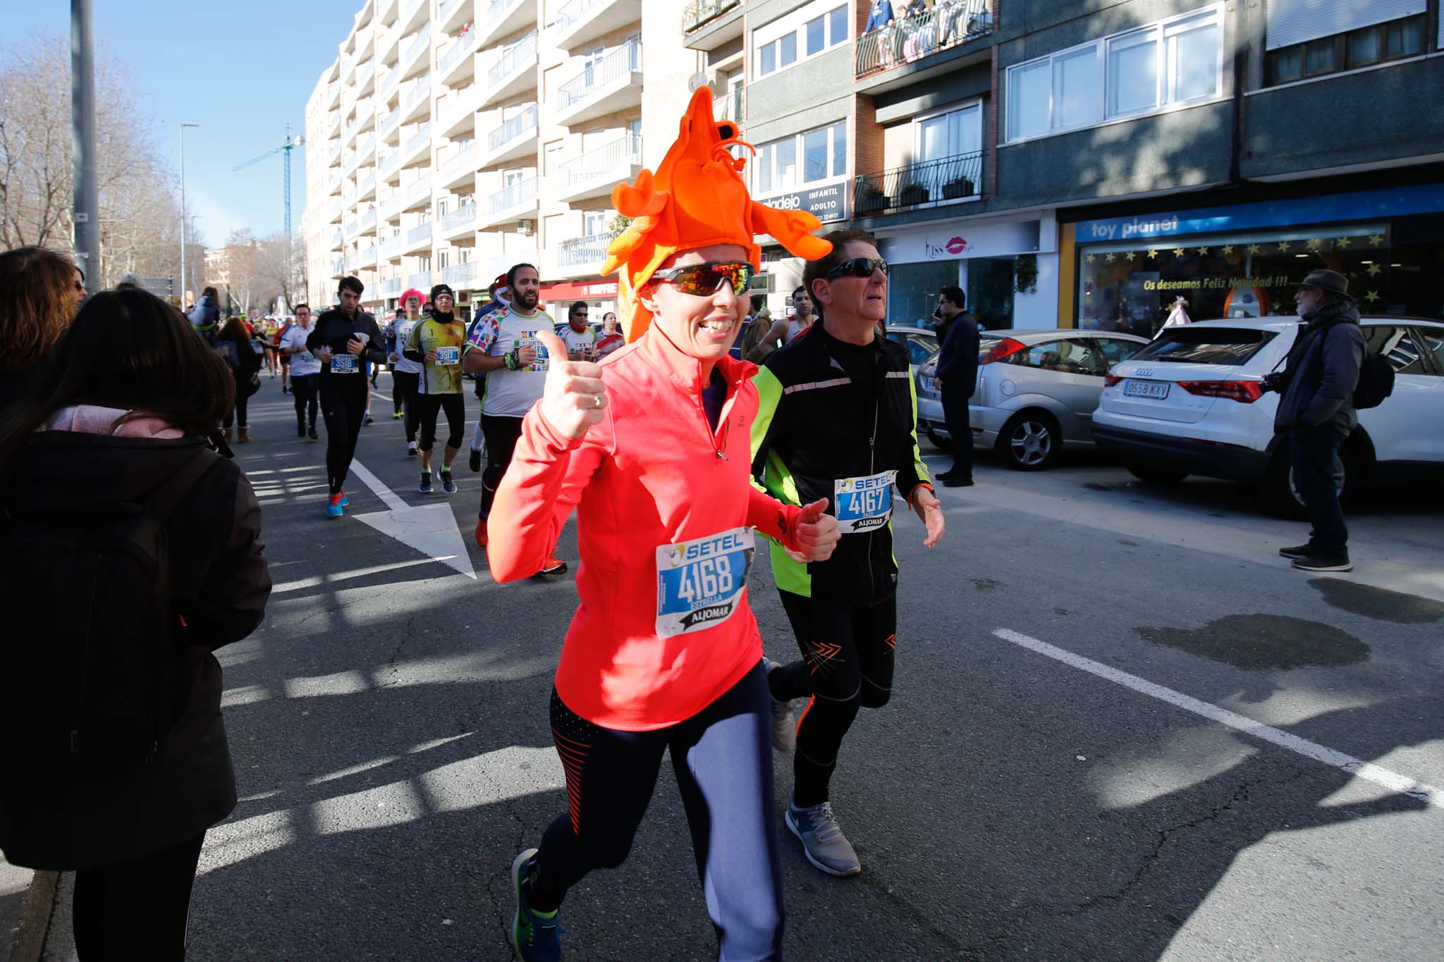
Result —
M 357 451 L 361 415 L 365 412 L 365 362 L 386 361 L 386 340 L 375 317 L 361 310 L 365 286 L 342 277 L 339 307 L 321 314 L 306 337 L 306 348 L 321 359 L 321 417 L 326 420 L 326 476 L 331 493 L 326 513 L 339 518 L 347 506 L 347 472 Z

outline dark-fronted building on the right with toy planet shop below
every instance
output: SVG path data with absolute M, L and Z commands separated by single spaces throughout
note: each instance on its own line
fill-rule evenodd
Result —
M 1437 317 L 1440 0 L 695 0 L 754 196 L 874 231 L 892 323 L 1278 312 L 1315 267 Z M 801 264 L 761 238 L 774 310 Z

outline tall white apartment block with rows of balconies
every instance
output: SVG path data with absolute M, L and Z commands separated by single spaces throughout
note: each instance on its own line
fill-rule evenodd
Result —
M 615 306 L 611 190 L 656 166 L 702 58 L 661 0 L 370 0 L 306 105 L 310 297 L 445 281 L 462 314 L 518 261 Z M 644 82 L 645 78 L 645 82 Z

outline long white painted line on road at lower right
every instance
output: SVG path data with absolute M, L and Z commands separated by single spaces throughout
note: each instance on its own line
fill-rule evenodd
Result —
M 1324 764 L 1336 769 L 1343 769 L 1354 777 L 1373 782 L 1375 785 L 1380 785 L 1391 792 L 1417 798 L 1435 808 L 1444 808 L 1444 790 L 1440 790 L 1432 785 L 1415 782 L 1414 779 L 1399 775 L 1398 772 L 1380 769 L 1379 766 L 1370 764 L 1363 759 L 1356 759 L 1352 754 L 1344 754 L 1343 751 L 1334 751 L 1333 749 L 1308 741 L 1307 738 L 1300 738 L 1298 736 L 1292 736 L 1272 725 L 1265 725 L 1259 721 L 1253 721 L 1252 718 L 1245 718 L 1243 715 L 1235 714 L 1227 708 L 1219 708 L 1217 705 L 1212 705 L 1206 701 L 1199 701 L 1197 698 L 1191 698 L 1181 691 L 1155 685 L 1154 682 L 1145 681 L 1138 675 L 1121 672 L 1116 668 L 1109 668 L 1108 665 L 1095 662 L 1090 658 L 1083 658 L 1082 655 L 1074 655 L 1073 652 L 1063 650 L 1061 648 L 1048 645 L 1047 642 L 1040 642 L 1035 637 L 1011 632 L 1005 627 L 995 629 L 993 635 L 1005 642 L 1011 642 L 1019 648 L 1027 648 L 1028 650 L 1040 655 L 1047 655 L 1048 658 L 1060 661 L 1064 665 L 1071 665 L 1073 668 L 1086 671 L 1090 675 L 1097 675 L 1099 678 L 1105 678 L 1116 685 L 1122 685 L 1123 688 L 1131 688 L 1142 695 L 1148 695 L 1149 698 L 1167 701 L 1175 708 L 1191 711 L 1196 715 L 1201 715 L 1210 721 L 1217 721 L 1219 724 L 1225 724 L 1230 728 L 1242 731 L 1243 734 L 1253 736 L 1255 738 L 1262 738 L 1264 741 L 1276 744 L 1281 749 L 1297 751 L 1305 759 L 1313 759 L 1314 762 L 1323 762 Z

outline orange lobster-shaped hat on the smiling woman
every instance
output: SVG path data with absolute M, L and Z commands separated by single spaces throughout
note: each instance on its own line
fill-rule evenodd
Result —
M 752 237 L 771 234 L 809 261 L 832 252 L 827 241 L 812 234 L 822 226 L 817 218 L 806 211 L 768 208 L 748 195 L 741 173 L 747 162 L 729 153 L 732 144 L 752 149 L 738 138 L 736 124 L 712 118 L 712 91 L 697 88 L 657 173 L 643 169 L 637 183 L 612 189 L 612 206 L 632 222 L 606 248 L 602 274 L 621 268 L 618 313 L 627 340 L 637 340 L 651 326 L 651 312 L 637 291 L 677 251 L 741 244 L 755 265 L 762 252 Z

